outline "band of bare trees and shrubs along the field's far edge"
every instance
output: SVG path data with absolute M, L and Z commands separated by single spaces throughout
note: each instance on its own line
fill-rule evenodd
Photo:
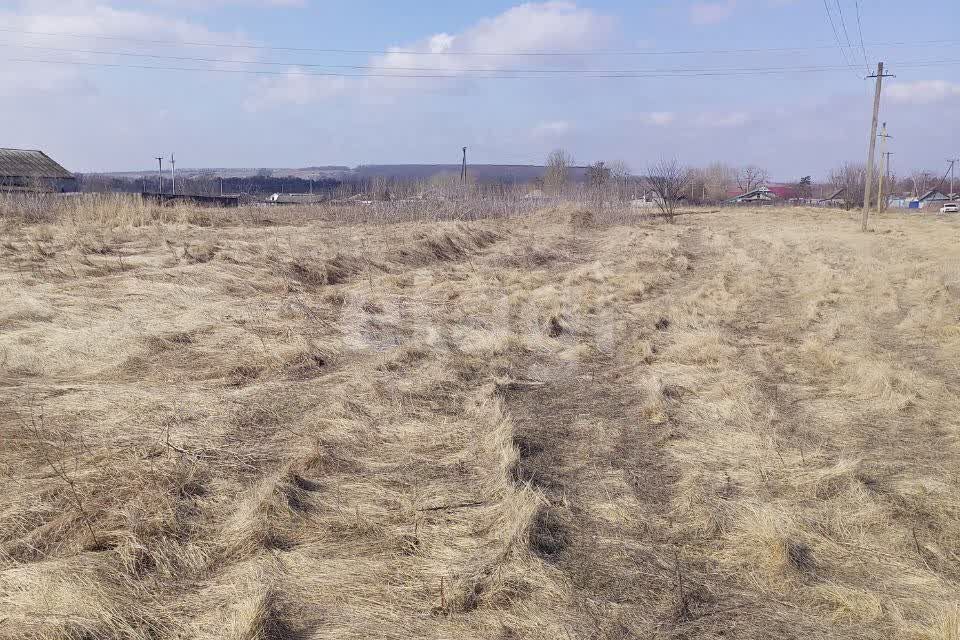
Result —
M 814 183 L 810 175 L 800 176 L 787 183 L 791 199 L 800 202 L 828 199 L 837 195 L 847 206 L 862 206 L 866 181 L 863 164 L 846 163 L 828 174 L 826 181 Z M 770 183 L 769 172 L 758 165 L 733 166 L 723 162 L 695 167 L 678 160 L 661 160 L 635 173 L 622 160 L 597 161 L 587 165 L 586 171 L 577 167 L 573 156 L 564 149 L 556 149 L 547 156 L 543 173 L 532 184 L 518 185 L 513 181 L 486 181 L 482 185 L 470 176 L 466 182 L 457 173 L 442 172 L 429 179 L 389 178 L 373 176 L 362 179 L 275 177 L 269 170 L 261 170 L 248 177 L 220 178 L 216 175 L 177 177 L 177 193 L 196 195 L 252 195 L 273 193 L 313 193 L 329 199 L 361 196 L 385 201 L 423 197 L 469 197 L 531 195 L 545 198 L 570 197 L 604 202 L 628 202 L 642 199 L 673 215 L 677 203 L 722 203 L 738 194 L 748 193 Z M 944 188 L 943 176 L 933 171 L 915 171 L 909 175 L 890 174 L 884 187 L 885 194 L 919 197 L 930 189 Z M 161 183 L 156 176 L 143 177 L 78 175 L 81 191 L 155 193 Z M 165 193 L 172 193 L 173 181 L 169 174 L 162 179 Z M 874 189 L 876 192 L 877 190 Z M 521 193 L 522 192 L 522 193 Z

